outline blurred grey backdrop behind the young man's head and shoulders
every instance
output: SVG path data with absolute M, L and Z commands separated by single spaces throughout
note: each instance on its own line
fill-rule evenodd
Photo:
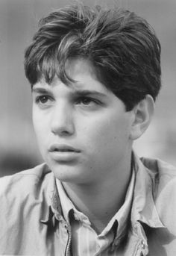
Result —
M 139 156 L 159 157 L 176 165 L 176 1 L 121 0 L 154 27 L 162 46 L 162 90 L 154 120 L 134 148 Z M 0 0 L 0 176 L 42 163 L 31 120 L 31 89 L 25 78 L 23 55 L 37 22 L 70 1 Z

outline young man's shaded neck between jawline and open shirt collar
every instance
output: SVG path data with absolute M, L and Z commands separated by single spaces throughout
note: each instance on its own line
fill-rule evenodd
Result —
M 131 179 L 131 160 L 125 168 L 117 169 L 115 173 L 116 177 L 98 184 L 63 183 L 75 207 L 89 218 L 98 233 L 101 233 L 125 201 Z

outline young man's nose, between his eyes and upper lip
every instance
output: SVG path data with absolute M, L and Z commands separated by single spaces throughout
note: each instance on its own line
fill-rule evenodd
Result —
M 72 107 L 58 104 L 51 115 L 51 132 L 60 137 L 68 137 L 75 133 Z

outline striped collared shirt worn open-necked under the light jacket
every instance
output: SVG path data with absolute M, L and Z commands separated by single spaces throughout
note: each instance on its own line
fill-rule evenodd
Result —
M 112 245 L 115 236 L 119 239 L 119 243 L 120 240 L 125 237 L 131 211 L 134 183 L 135 171 L 133 169 L 124 204 L 115 216 L 110 219 L 110 222 L 104 230 L 101 231 L 101 234 L 97 234 L 91 227 L 88 217 L 76 209 L 75 205 L 73 205 L 66 195 L 63 185 L 57 179 L 57 190 L 60 195 L 60 204 L 63 210 L 63 216 L 72 227 L 73 255 L 116 255 L 115 247 L 112 247 Z M 72 213 L 71 220 L 69 219 L 69 213 Z M 116 228 L 116 230 L 114 230 L 114 228 Z

